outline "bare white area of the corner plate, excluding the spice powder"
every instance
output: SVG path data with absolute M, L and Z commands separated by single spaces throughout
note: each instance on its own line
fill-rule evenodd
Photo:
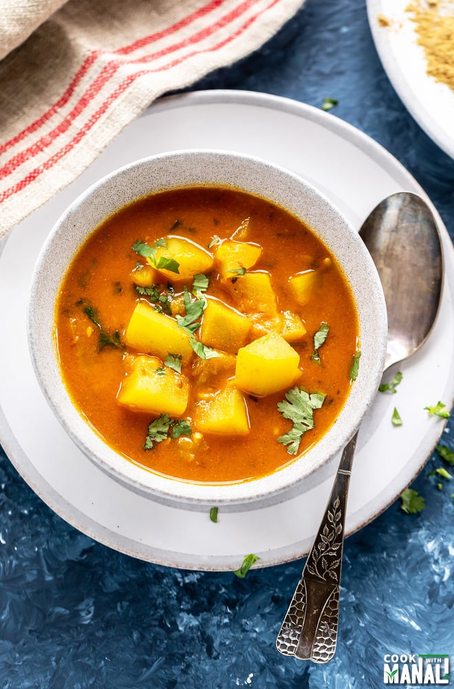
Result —
M 424 48 L 416 43 L 408 0 L 367 0 L 372 36 L 383 68 L 420 127 L 454 158 L 454 90 L 426 73 Z M 383 14 L 389 26 L 382 26 Z

